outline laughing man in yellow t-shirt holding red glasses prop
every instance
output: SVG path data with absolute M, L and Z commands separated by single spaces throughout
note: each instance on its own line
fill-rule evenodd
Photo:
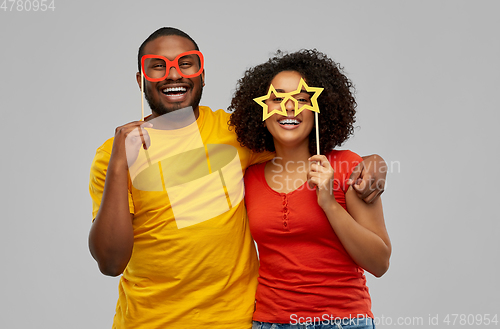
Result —
M 241 179 L 232 179 L 237 175 L 228 174 L 226 168 L 229 163 L 237 163 L 241 176 L 240 168 L 244 171 L 272 155 L 255 154 L 241 147 L 234 132 L 227 128 L 229 114 L 199 106 L 205 77 L 202 55 L 196 55 L 196 64 L 189 64 L 198 65 L 193 74 L 185 69 L 183 61 L 198 50 L 191 37 L 174 28 L 159 29 L 144 41 L 138 54 L 137 82 L 140 86 L 145 83 L 152 115 L 146 119 L 147 123 L 131 122 L 118 127 L 114 138 L 97 150 L 92 164 L 90 193 L 94 222 L 89 248 L 103 274 L 123 273 L 113 328 L 251 327 L 258 259 L 247 225 Z M 152 62 L 142 61 L 144 55 L 154 55 Z M 164 76 L 155 79 L 153 70 Z M 141 72 L 146 81 L 141 81 Z M 193 168 L 200 167 L 198 160 L 191 157 L 177 162 L 168 160 L 179 159 L 176 158 L 182 155 L 179 150 L 155 160 L 141 147 L 151 146 L 152 150 L 158 144 L 177 144 L 172 140 L 176 138 L 172 137 L 172 131 L 184 131 L 193 124 L 169 130 L 162 127 L 168 125 L 168 120 L 161 118 L 188 107 L 192 107 L 193 124 L 201 140 L 193 147 L 189 144 L 189 154 L 202 152 L 201 158 L 206 154 L 209 171 L 196 179 L 182 180 Z M 156 129 L 146 130 L 141 126 Z M 158 142 L 162 134 L 168 137 Z M 185 138 L 176 140 L 183 143 L 182 139 Z M 217 145 L 227 148 L 214 153 Z M 154 171 L 153 176 L 161 182 L 159 189 L 138 188 L 140 173 L 132 177 L 129 172 L 129 167 L 141 156 L 139 153 L 148 157 L 149 165 L 145 168 Z M 223 160 L 219 159 L 221 153 Z M 372 158 L 370 163 L 373 161 L 378 159 Z M 353 181 L 357 182 L 361 174 L 365 180 L 375 177 L 374 170 L 367 172 L 370 166 L 363 165 L 365 169 L 360 167 Z M 165 177 L 181 181 L 171 184 Z M 219 199 L 215 189 L 204 193 L 210 188 L 199 188 L 199 184 L 213 187 L 214 177 L 222 182 L 218 185 L 222 196 Z M 383 185 L 379 187 L 374 191 L 360 190 L 360 195 L 376 198 L 383 190 Z M 181 219 L 182 216 L 186 219 Z

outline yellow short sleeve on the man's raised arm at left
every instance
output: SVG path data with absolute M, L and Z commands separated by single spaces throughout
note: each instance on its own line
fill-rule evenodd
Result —
M 92 166 L 90 167 L 89 192 L 92 198 L 92 220 L 97 216 L 101 205 L 102 195 L 104 192 L 104 182 L 106 181 L 106 171 L 108 169 L 112 139 L 106 141 L 100 148 L 97 149 Z M 134 203 L 130 188 L 128 189 L 128 203 L 130 213 L 134 213 Z

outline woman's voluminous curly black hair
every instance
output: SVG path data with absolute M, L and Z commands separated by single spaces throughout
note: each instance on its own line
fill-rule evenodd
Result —
M 308 86 L 324 88 L 318 97 L 321 154 L 342 145 L 354 131 L 354 85 L 338 63 L 316 49 L 290 54 L 278 50 L 274 57 L 248 69 L 238 80 L 228 107 L 233 112 L 228 123 L 230 129 L 234 127 L 238 142 L 255 152 L 275 151 L 273 136 L 262 124 L 262 107 L 253 99 L 266 95 L 271 81 L 282 71 L 296 71 Z M 309 135 L 309 152 L 316 153 L 314 128 Z

